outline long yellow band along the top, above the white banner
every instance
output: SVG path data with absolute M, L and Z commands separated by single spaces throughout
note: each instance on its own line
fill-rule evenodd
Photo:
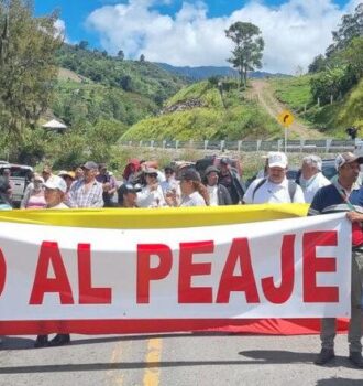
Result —
M 307 204 L 133 210 L 14 210 L 0 212 L 0 222 L 113 229 L 182 228 L 299 217 L 306 216 L 307 211 Z

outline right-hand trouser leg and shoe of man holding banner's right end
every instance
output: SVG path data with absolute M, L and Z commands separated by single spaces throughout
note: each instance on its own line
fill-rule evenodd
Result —
M 363 286 L 363 250 L 353 251 L 352 258 L 352 313 L 349 324 L 349 360 L 359 368 L 363 368 L 362 357 L 362 286 Z

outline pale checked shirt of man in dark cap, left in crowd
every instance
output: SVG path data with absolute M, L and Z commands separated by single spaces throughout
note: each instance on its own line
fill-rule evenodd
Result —
M 85 185 L 85 180 L 75 181 L 70 186 L 66 204 L 69 207 L 103 207 L 102 184 L 95 180 L 87 191 Z

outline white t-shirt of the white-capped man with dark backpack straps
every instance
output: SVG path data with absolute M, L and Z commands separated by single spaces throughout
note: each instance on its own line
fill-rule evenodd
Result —
M 288 180 L 285 178 L 279 184 L 271 182 L 268 179 L 256 191 L 256 186 L 263 179 L 254 180 L 243 196 L 246 204 L 283 204 L 292 203 L 288 193 Z M 253 192 L 254 195 L 253 195 Z M 305 203 L 304 193 L 299 185 L 296 186 L 293 203 Z

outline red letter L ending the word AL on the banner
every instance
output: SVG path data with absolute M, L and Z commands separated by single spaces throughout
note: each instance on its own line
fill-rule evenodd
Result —
M 79 304 L 111 304 L 111 288 L 92 287 L 90 244 L 78 244 Z

